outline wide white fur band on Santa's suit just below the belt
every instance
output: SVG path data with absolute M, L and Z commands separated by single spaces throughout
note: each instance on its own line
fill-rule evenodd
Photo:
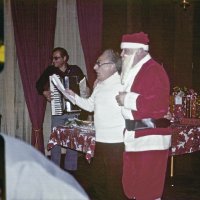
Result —
M 171 146 L 171 135 L 148 135 L 135 138 L 134 133 L 134 131 L 126 131 L 124 135 L 125 151 L 127 152 L 166 150 Z

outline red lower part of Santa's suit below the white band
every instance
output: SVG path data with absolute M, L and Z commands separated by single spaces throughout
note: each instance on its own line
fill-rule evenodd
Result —
M 124 152 L 123 188 L 126 196 L 154 200 L 162 196 L 168 150 Z

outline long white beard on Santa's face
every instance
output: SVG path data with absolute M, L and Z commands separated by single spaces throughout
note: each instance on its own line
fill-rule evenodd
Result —
M 122 72 L 121 72 L 121 83 L 122 85 L 125 84 L 126 79 L 129 75 L 129 71 L 131 70 L 131 68 L 133 68 L 133 61 L 135 58 L 135 54 L 136 52 L 134 52 L 132 55 L 130 56 L 126 56 L 124 58 L 124 60 L 122 61 Z

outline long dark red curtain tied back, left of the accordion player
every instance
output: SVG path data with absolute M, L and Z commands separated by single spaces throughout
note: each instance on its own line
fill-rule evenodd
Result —
M 32 123 L 32 145 L 44 153 L 46 101 L 35 83 L 50 62 L 56 23 L 56 0 L 11 0 L 20 75 Z

